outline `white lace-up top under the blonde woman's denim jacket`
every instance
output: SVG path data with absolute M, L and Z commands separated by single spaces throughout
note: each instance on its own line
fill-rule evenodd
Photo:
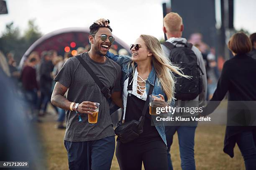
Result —
M 127 78 L 123 84 L 123 119 L 125 117 L 125 110 L 126 110 L 126 103 L 127 103 L 127 95 L 128 95 L 128 91 L 127 91 L 127 86 L 128 86 L 128 80 L 129 78 Z M 145 82 L 144 86 L 140 86 L 138 84 L 138 82 Z M 131 92 L 131 94 L 135 95 L 136 97 L 142 99 L 142 100 L 147 100 L 147 92 L 146 92 L 146 80 L 143 80 L 139 75 L 138 75 L 138 71 L 137 68 L 134 72 L 134 76 L 133 76 L 133 91 Z M 144 89 L 145 88 L 145 89 Z M 137 90 L 139 92 L 141 92 L 143 95 L 138 94 Z M 129 91 L 130 92 L 130 91 Z

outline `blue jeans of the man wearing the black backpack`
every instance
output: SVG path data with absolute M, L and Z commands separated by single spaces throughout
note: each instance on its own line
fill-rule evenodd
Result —
M 173 170 L 170 148 L 173 142 L 173 135 L 176 131 L 179 139 L 179 153 L 182 170 L 195 170 L 194 145 L 196 128 L 197 122 L 195 122 L 195 125 L 191 126 L 165 126 L 168 170 Z

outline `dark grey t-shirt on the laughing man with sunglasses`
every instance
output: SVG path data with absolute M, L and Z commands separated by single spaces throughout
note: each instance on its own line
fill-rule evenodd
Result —
M 112 92 L 121 90 L 121 68 L 117 63 L 108 58 L 104 63 L 95 62 L 87 52 L 79 55 L 87 62 L 103 85 L 112 89 Z M 82 122 L 78 122 L 79 118 L 76 112 L 66 110 L 67 129 L 64 140 L 81 142 L 115 135 L 108 101 L 100 91 L 100 87 L 76 57 L 71 57 L 65 62 L 54 80 L 68 87 L 67 100 L 78 103 L 83 101 L 100 103 L 98 120 L 95 124 L 89 123 L 88 115 L 83 113 L 80 114 Z

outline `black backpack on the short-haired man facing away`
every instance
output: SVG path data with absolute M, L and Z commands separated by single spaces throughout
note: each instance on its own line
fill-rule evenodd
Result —
M 164 46 L 171 50 L 169 60 L 172 64 L 181 67 L 184 75 L 192 76 L 191 79 L 188 79 L 174 73 L 174 76 L 177 77 L 175 98 L 177 100 L 193 100 L 202 92 L 201 75 L 203 75 L 203 72 L 197 64 L 197 56 L 192 50 L 193 45 L 191 43 L 174 42 L 179 46 L 170 42 L 163 43 Z

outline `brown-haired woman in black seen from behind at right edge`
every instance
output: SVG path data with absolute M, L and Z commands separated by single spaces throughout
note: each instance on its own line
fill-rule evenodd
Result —
M 247 54 L 252 45 L 243 32 L 238 32 L 230 38 L 228 48 L 234 57 L 224 63 L 217 88 L 201 115 L 212 113 L 228 92 L 228 122 L 239 116 L 237 121 L 242 124 L 226 127 L 223 151 L 233 158 L 233 148 L 237 144 L 243 155 L 246 170 L 256 170 L 256 126 L 247 126 L 246 123 L 253 118 L 248 114 L 253 112 L 255 117 L 255 110 L 251 110 L 252 105 L 245 105 L 248 101 L 256 101 L 256 60 Z

